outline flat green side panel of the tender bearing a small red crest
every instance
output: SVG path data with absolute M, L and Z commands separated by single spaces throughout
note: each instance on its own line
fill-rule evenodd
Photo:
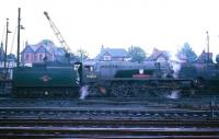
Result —
M 76 86 L 72 67 L 23 67 L 13 71 L 14 86 Z

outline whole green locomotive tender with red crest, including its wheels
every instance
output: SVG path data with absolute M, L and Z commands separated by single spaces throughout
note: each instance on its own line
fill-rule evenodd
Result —
M 16 96 L 76 95 L 80 89 L 78 71 L 68 63 L 35 63 L 13 71 Z

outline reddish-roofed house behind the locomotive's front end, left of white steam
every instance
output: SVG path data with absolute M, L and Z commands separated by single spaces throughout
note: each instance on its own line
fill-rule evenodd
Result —
M 152 54 L 147 58 L 147 61 L 169 61 L 169 53 L 166 50 L 159 50 L 157 48 L 153 48 Z

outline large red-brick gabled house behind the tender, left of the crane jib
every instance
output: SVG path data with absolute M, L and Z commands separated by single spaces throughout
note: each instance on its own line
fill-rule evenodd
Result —
M 57 47 L 49 39 L 43 39 L 38 44 L 25 44 L 25 48 L 21 53 L 21 61 L 24 65 L 32 65 L 34 62 L 56 61 L 65 57 L 65 48 Z

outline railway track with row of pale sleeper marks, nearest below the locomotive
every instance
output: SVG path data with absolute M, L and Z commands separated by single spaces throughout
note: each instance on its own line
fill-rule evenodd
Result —
M 0 108 L 0 118 L 219 119 L 219 111 L 191 111 L 168 107 L 2 107 Z

